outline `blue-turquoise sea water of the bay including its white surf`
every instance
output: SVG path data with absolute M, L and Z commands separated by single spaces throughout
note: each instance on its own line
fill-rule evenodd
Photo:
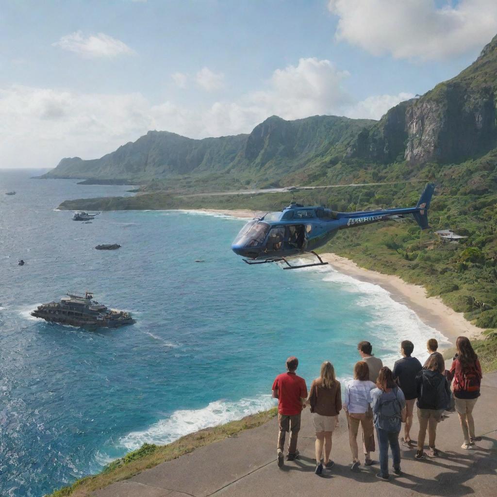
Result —
M 401 339 L 420 358 L 428 337 L 443 341 L 375 285 L 244 264 L 230 249 L 244 220 L 129 211 L 74 222 L 54 210 L 62 200 L 129 187 L 35 172 L 0 170 L 1 496 L 42 496 L 143 442 L 267 408 L 288 355 L 310 383 L 325 359 L 349 378 L 362 339 L 389 364 Z M 92 249 L 100 243 L 122 248 Z M 85 290 L 137 323 L 89 332 L 29 316 Z

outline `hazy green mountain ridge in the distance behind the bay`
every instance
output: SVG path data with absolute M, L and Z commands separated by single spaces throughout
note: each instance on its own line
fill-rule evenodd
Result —
M 222 173 L 228 184 L 278 183 L 280 175 L 298 171 L 328 154 L 343 156 L 357 133 L 375 121 L 313 116 L 285 121 L 271 116 L 249 135 L 192 140 L 167 131 L 149 131 L 100 159 L 63 159 L 43 178 L 164 180 L 176 184 L 192 175 L 215 185 Z

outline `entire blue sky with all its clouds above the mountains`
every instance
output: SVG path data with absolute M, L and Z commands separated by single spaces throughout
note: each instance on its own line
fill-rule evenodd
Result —
M 149 130 L 379 119 L 471 64 L 497 0 L 0 0 L 0 168 Z

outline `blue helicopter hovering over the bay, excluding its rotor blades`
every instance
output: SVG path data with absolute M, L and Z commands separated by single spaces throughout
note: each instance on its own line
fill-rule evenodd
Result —
M 427 211 L 434 190 L 435 185 L 428 183 L 415 207 L 373 211 L 336 212 L 292 202 L 280 212 L 268 212 L 249 221 L 231 248 L 250 265 L 283 262 L 286 264 L 283 269 L 326 265 L 328 262 L 323 262 L 314 250 L 328 243 L 338 230 L 403 218 L 407 214 L 413 215 L 421 230 L 429 228 Z M 288 262 L 288 258 L 305 253 L 313 254 L 319 262 L 301 265 Z

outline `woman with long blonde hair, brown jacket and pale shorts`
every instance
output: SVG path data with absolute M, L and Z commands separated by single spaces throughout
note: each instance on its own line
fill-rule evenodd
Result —
M 325 449 L 324 464 L 332 468 L 330 461 L 331 436 L 338 423 L 338 413 L 341 411 L 341 387 L 335 378 L 335 370 L 329 361 L 321 365 L 321 374 L 311 385 L 308 404 L 311 406 L 312 423 L 316 430 L 316 471 L 317 475 L 323 473 L 323 446 Z

